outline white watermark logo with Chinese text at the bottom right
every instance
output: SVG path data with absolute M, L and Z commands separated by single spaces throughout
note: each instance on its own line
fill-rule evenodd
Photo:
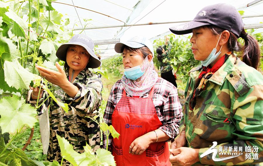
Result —
M 212 153 L 212 160 L 214 161 L 224 161 L 229 160 L 231 158 L 236 158 L 240 155 L 243 155 L 243 147 L 238 146 L 219 146 L 218 149 L 216 148 L 217 142 L 214 141 L 213 145 L 205 151 L 202 155 L 200 155 L 201 158 L 205 157 L 206 155 L 209 155 Z M 217 154 L 219 155 L 230 155 L 229 157 L 221 157 L 216 158 Z M 245 160 L 258 160 L 258 147 L 257 146 L 245 146 Z

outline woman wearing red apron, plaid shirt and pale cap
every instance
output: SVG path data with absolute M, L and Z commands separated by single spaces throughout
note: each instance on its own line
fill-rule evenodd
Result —
M 170 166 L 167 141 L 177 136 L 182 118 L 177 89 L 158 77 L 145 37 L 116 43 L 115 51 L 122 53 L 124 75 L 113 85 L 104 113 L 120 133 L 118 139 L 110 136 L 109 150 L 117 166 Z

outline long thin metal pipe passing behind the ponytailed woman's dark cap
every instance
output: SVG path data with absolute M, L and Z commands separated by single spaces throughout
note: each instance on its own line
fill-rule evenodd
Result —
M 247 15 L 247 16 L 242 16 L 242 18 L 254 18 L 254 17 L 262 17 L 263 15 Z M 109 26 L 98 26 L 98 27 L 87 27 L 85 29 L 103 29 L 103 28 L 115 28 L 115 27 L 131 27 L 131 26 L 140 26 L 140 25 L 156 25 L 156 24 L 171 24 L 171 23 L 184 23 L 184 22 L 189 22 L 192 20 L 187 20 L 187 21 L 170 21 L 170 22 L 148 22 L 144 24 L 124 24 L 124 25 L 109 25 Z M 82 30 L 81 28 L 76 28 L 73 29 L 74 31 L 76 30 Z

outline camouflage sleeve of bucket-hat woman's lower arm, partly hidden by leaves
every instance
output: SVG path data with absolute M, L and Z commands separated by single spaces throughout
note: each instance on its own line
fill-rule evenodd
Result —
M 33 92 L 33 90 L 29 90 L 27 92 L 26 102 L 28 104 L 31 104 L 31 106 L 35 106 L 35 104 L 37 104 L 37 100 L 32 100 L 31 99 L 32 92 Z M 50 104 L 50 100 L 49 100 L 48 97 L 49 97 L 48 93 L 45 92 L 45 90 L 44 90 L 43 91 L 43 96 L 38 100 L 38 105 L 40 105 L 43 101 L 45 101 L 45 102 L 39 107 L 39 109 L 37 109 L 38 115 L 43 114 L 48 109 L 49 104 Z

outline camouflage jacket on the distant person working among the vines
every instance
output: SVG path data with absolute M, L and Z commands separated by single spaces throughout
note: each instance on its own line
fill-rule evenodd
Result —
M 168 48 L 166 48 L 166 45 L 164 45 L 163 48 L 165 49 L 165 52 L 162 53 L 161 58 L 159 60 L 160 67 L 161 67 L 161 73 L 165 73 L 173 69 L 171 66 L 170 57 L 169 57 L 171 53 L 171 49 L 172 49 L 171 42 L 168 41 Z

